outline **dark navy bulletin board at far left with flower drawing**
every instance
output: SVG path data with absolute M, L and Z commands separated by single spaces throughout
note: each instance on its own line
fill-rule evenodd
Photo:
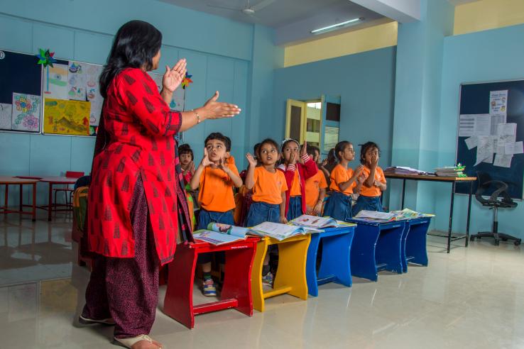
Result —
M 42 68 L 35 55 L 0 50 L 0 130 L 40 133 Z

